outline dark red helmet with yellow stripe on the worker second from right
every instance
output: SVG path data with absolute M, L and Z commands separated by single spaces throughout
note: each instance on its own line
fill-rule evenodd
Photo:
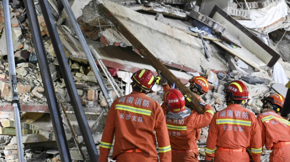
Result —
M 249 91 L 247 86 L 241 81 L 231 81 L 225 89 L 226 95 L 234 100 L 247 100 L 249 99 Z

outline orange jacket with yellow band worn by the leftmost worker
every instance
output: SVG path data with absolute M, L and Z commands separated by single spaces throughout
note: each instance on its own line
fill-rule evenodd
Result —
M 115 132 L 113 159 L 132 149 L 140 149 L 145 157 L 157 159 L 154 129 L 159 153 L 162 154 L 161 159 L 170 161 L 171 147 L 160 105 L 144 93 L 137 91 L 116 99 L 111 106 L 104 129 L 104 132 Z M 113 137 L 111 133 L 103 134 L 102 142 L 110 144 L 108 141 Z M 167 157 L 166 153 L 169 153 Z M 100 157 L 103 156 L 100 154 Z

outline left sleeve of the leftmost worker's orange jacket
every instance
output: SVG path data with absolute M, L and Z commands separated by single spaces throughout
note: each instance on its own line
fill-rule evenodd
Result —
M 115 135 L 115 102 L 107 115 L 103 136 L 100 143 L 99 162 L 107 162 Z

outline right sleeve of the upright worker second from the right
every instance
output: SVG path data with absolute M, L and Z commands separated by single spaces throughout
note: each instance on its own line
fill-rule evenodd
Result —
M 263 151 L 261 129 L 256 118 L 253 117 L 251 126 L 251 155 L 254 162 L 260 162 Z

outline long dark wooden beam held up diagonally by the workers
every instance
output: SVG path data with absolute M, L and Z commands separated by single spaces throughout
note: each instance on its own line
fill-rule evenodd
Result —
M 161 63 L 117 18 L 109 11 L 103 4 L 97 6 L 100 12 L 103 13 L 118 29 L 118 31 L 125 36 L 127 40 L 140 52 L 140 54 L 150 63 L 156 70 L 161 71 L 161 75 L 169 82 L 169 84 L 175 83 L 176 87 L 185 95 L 187 95 L 191 102 L 186 100 L 187 105 L 193 108 L 199 114 L 204 113 L 204 107 L 199 104 L 199 99 L 194 96 L 193 92 L 190 91 L 179 79 L 169 71 L 165 65 Z

